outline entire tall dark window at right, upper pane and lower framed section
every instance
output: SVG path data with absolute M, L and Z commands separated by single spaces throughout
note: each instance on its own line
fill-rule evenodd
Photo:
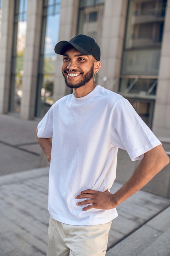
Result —
M 166 0 L 129 0 L 119 92 L 151 128 Z

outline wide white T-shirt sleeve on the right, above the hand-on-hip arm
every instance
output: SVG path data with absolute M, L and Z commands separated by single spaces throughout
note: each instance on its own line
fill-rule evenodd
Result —
M 142 159 L 144 153 L 161 144 L 124 98 L 113 109 L 111 134 L 112 144 L 126 150 L 132 161 Z

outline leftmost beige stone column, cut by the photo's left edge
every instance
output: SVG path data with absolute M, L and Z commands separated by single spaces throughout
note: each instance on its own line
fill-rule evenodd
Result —
M 11 80 L 14 0 L 2 0 L 0 39 L 0 114 L 7 114 Z

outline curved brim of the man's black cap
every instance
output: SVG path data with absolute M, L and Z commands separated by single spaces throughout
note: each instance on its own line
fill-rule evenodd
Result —
M 75 48 L 77 51 L 81 52 L 82 54 L 92 55 L 90 52 L 86 51 L 82 47 L 79 47 L 78 45 L 75 45 L 68 41 L 60 41 L 59 43 L 57 43 L 57 45 L 55 45 L 54 51 L 57 54 L 63 55 L 68 49 L 71 49 L 72 47 Z

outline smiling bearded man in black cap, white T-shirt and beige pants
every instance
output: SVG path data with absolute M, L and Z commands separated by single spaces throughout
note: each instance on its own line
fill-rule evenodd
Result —
M 169 158 L 126 99 L 95 85 L 101 63 L 93 38 L 78 35 L 61 41 L 55 52 L 63 55 L 62 74 L 73 94 L 55 102 L 37 128 L 50 162 L 47 255 L 105 255 L 115 207 L 149 182 Z M 118 148 L 141 162 L 111 194 Z

